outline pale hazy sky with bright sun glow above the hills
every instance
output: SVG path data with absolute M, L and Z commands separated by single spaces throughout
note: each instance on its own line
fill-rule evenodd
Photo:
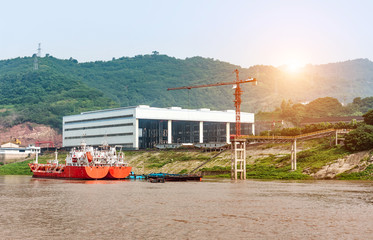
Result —
M 0 59 L 151 54 L 255 64 L 373 60 L 373 1 L 0 0 Z

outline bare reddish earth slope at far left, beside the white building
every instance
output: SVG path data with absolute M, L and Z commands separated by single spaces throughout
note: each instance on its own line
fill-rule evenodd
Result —
M 18 124 L 11 128 L 0 125 L 0 143 L 9 142 L 14 138 L 21 141 L 21 146 L 35 144 L 37 141 L 52 141 L 57 146 L 62 145 L 62 135 L 45 125 L 30 122 Z

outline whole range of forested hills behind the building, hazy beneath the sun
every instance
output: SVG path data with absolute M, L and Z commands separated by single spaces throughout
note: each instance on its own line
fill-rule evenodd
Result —
M 343 103 L 373 96 L 373 62 L 357 59 L 307 65 L 296 72 L 273 66 L 241 68 L 193 57 L 185 60 L 154 53 L 112 61 L 78 63 L 73 58 L 0 61 L 0 124 L 33 121 L 60 128 L 61 117 L 94 109 L 147 104 L 153 107 L 234 109 L 232 86 L 167 91 L 167 88 L 255 77 L 243 85 L 242 111 L 269 111 L 283 99 L 295 102 L 335 97 Z

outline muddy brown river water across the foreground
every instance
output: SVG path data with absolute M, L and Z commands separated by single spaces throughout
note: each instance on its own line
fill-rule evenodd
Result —
M 373 182 L 0 176 L 0 239 L 373 239 Z

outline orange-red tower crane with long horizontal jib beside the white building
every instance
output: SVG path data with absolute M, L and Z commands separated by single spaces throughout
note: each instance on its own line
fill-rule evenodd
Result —
M 257 85 L 257 81 L 255 78 L 249 78 L 246 80 L 240 80 L 239 71 L 238 69 L 233 71 L 236 73 L 236 81 L 234 82 L 221 82 L 221 83 L 213 83 L 213 84 L 205 84 L 205 85 L 197 85 L 197 86 L 185 86 L 185 87 L 177 87 L 177 88 L 168 88 L 167 91 L 170 90 L 181 90 L 181 89 L 192 89 L 192 88 L 204 88 L 204 87 L 215 87 L 215 86 L 224 86 L 224 85 L 233 85 L 236 89 L 234 92 L 234 106 L 236 107 L 236 137 L 241 136 L 241 95 L 242 89 L 240 84 L 243 83 L 253 83 Z

